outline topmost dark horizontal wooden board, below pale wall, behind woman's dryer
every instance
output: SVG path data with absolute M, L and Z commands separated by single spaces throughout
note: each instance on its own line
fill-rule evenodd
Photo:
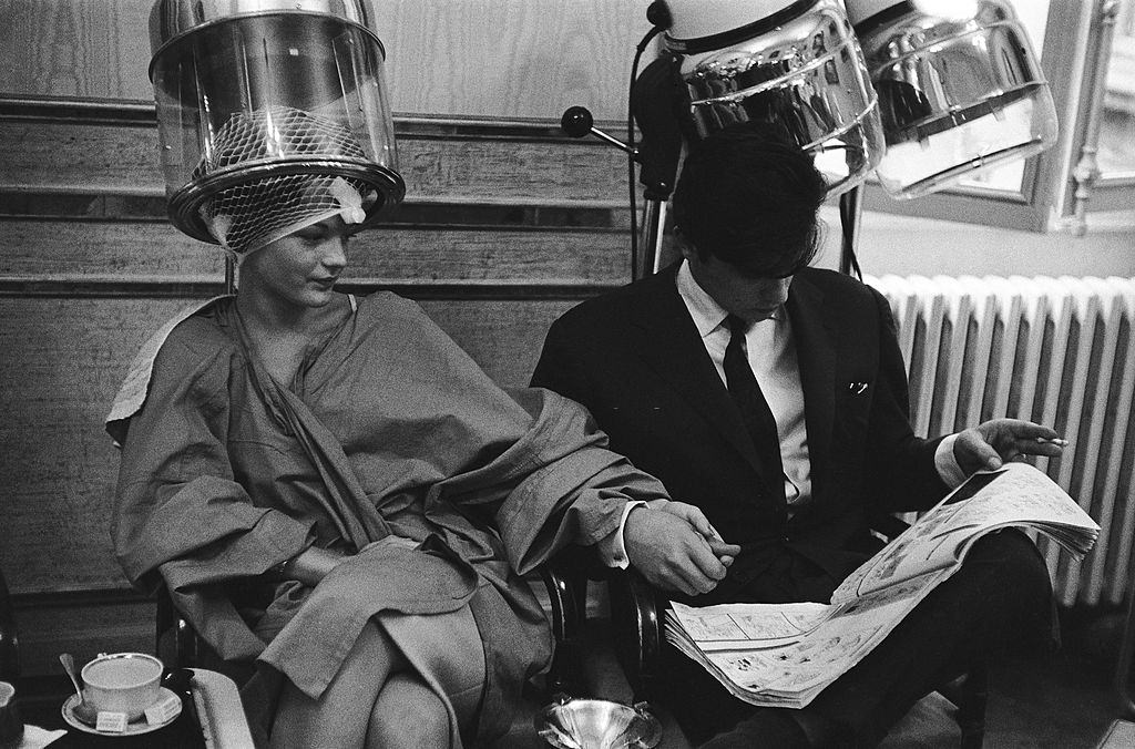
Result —
M 398 137 L 410 202 L 622 207 L 627 161 L 594 141 Z M 0 120 L 0 190 L 165 193 L 157 126 Z

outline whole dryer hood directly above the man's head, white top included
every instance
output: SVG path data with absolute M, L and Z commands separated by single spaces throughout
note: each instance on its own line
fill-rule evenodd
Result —
M 883 155 L 875 91 L 839 0 L 667 0 L 664 36 L 697 137 L 735 123 L 784 126 L 832 194 Z

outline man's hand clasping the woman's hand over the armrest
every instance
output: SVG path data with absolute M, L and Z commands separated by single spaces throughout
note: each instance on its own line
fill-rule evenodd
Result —
M 722 541 L 700 510 L 680 502 L 632 510 L 623 541 L 630 563 L 650 584 L 688 596 L 713 590 L 725 577 L 723 559 L 732 563 L 741 550 Z

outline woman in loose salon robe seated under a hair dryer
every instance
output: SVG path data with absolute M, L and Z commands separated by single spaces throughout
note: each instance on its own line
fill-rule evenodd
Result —
M 127 378 L 118 557 L 224 658 L 255 659 L 246 708 L 272 746 L 484 743 L 550 655 L 520 575 L 609 544 L 629 500 L 708 523 L 412 302 L 337 293 L 358 201 L 293 190 L 322 208 L 281 224 L 258 204 L 276 228 L 228 247 L 235 297 L 173 321 Z

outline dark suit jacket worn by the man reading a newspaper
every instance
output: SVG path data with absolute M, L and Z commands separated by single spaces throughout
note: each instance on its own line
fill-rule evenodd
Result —
M 809 268 L 792 281 L 787 308 L 813 498 L 789 521 L 678 294 L 676 268 L 565 313 L 548 331 L 532 385 L 587 406 L 614 451 L 742 546 L 726 580 L 692 603 L 826 601 L 866 558 L 872 515 L 925 508 L 947 490 L 934 469 L 938 440 L 910 429 L 890 308 L 834 271 Z M 812 565 L 822 570 L 818 582 L 794 594 L 770 579 L 800 577 Z

